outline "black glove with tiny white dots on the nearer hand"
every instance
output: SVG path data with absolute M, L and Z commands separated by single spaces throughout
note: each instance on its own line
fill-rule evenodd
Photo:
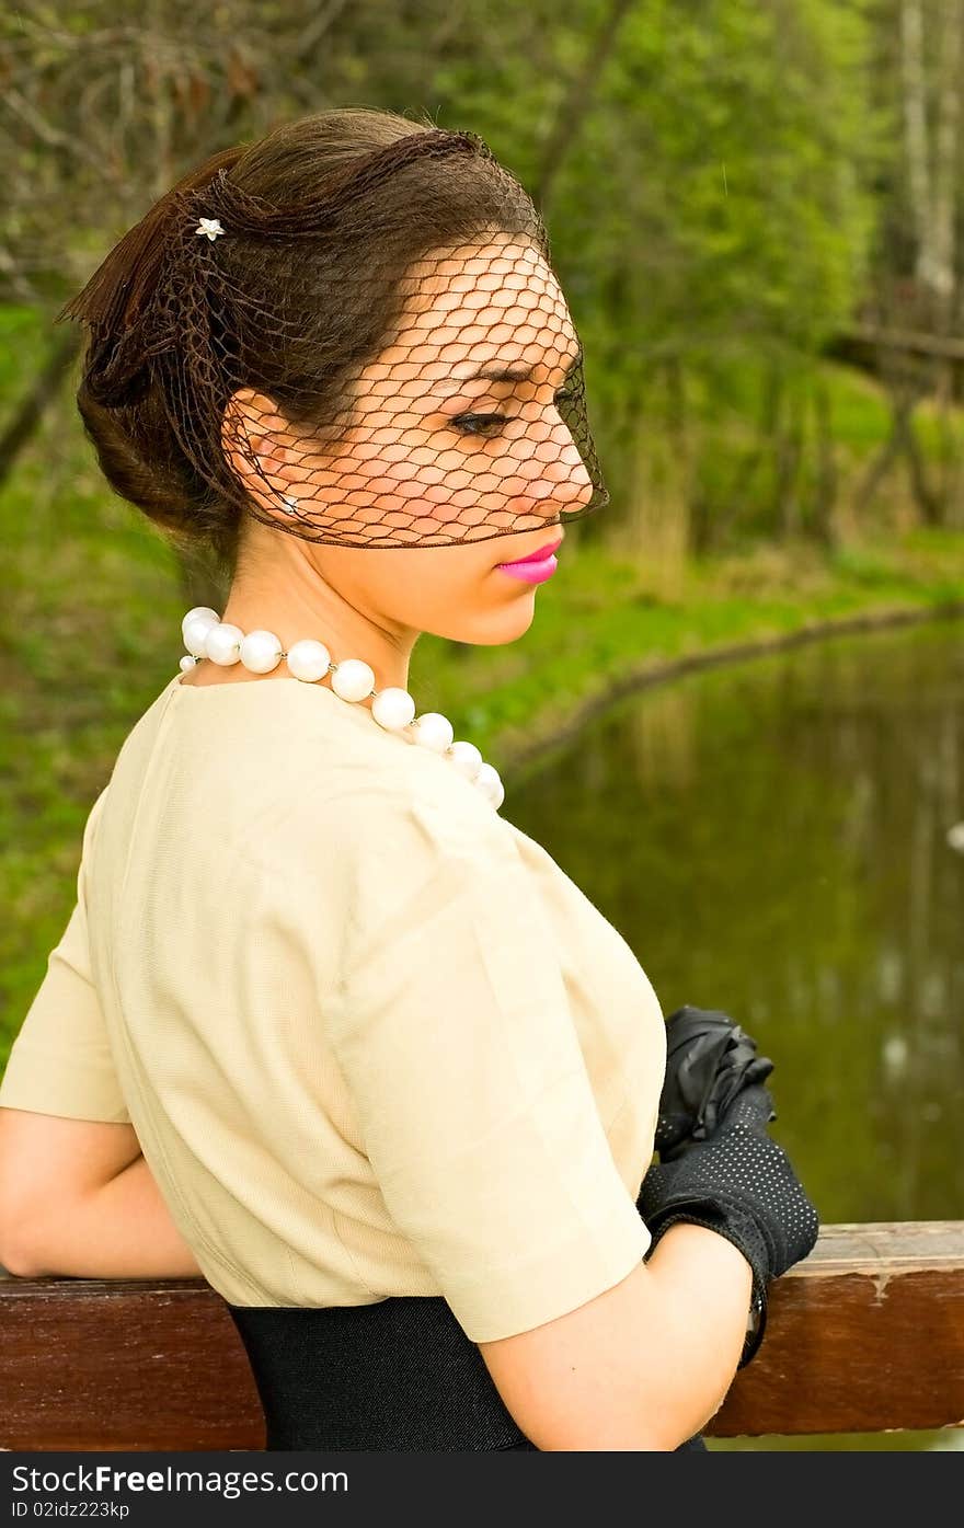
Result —
M 820 1222 L 784 1148 L 767 1131 L 773 1100 L 750 1083 L 720 1114 L 713 1135 L 691 1141 L 672 1161 L 649 1167 L 636 1201 L 652 1238 L 677 1221 L 726 1236 L 753 1270 L 756 1328 L 738 1368 L 750 1361 L 767 1326 L 767 1285 L 816 1245 Z

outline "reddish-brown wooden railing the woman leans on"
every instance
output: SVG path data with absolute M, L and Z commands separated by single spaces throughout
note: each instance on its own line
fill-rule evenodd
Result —
M 964 1427 L 964 1221 L 825 1225 L 706 1429 Z M 263 1449 L 240 1337 L 202 1279 L 0 1280 L 0 1447 Z

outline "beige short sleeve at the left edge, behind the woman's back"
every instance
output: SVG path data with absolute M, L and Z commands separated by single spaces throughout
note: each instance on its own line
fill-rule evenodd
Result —
M 87 946 L 86 871 L 107 788 L 87 816 L 76 902 L 14 1039 L 0 1080 L 0 1106 L 125 1125 L 130 1114 L 107 1042 Z

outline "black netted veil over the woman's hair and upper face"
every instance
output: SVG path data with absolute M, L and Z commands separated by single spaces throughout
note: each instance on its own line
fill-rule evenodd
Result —
M 449 215 L 440 241 L 429 202 L 388 281 L 388 177 L 443 186 L 469 160 L 458 235 Z M 412 131 L 299 203 L 254 197 L 226 168 L 163 203 L 61 316 L 90 327 L 90 397 L 136 432 L 150 394 L 212 500 L 350 547 L 486 541 L 608 503 L 545 228 L 477 134 Z M 131 254 L 136 301 L 118 281 Z M 330 365 L 289 316 L 306 303 L 333 318 Z M 373 322 L 356 335 L 359 312 Z

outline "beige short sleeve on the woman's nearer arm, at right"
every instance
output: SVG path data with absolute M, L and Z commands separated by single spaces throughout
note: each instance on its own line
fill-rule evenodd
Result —
M 507 825 L 484 802 L 463 824 L 425 798 L 399 811 L 396 911 L 328 995 L 328 1036 L 393 1222 L 466 1334 L 492 1342 L 619 1284 L 649 1232 Z

